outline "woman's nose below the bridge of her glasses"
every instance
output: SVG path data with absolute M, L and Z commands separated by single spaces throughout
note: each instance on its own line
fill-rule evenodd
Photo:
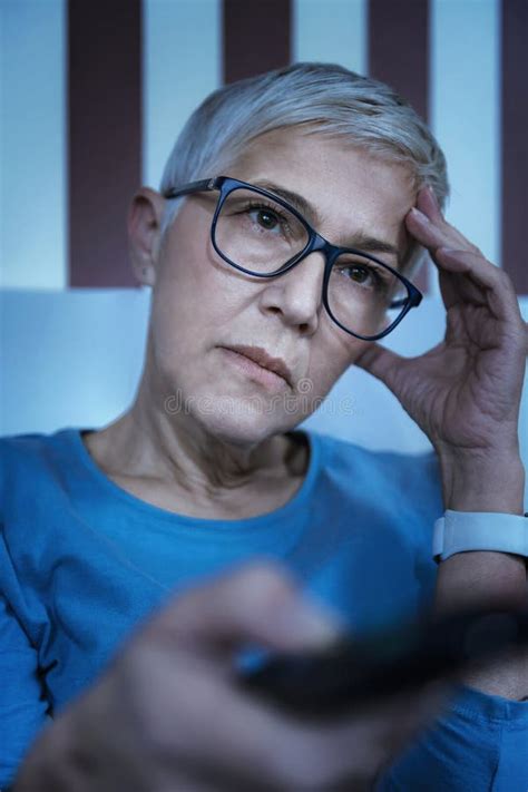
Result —
M 261 310 L 276 313 L 283 321 L 312 335 L 320 322 L 323 294 L 324 255 L 311 253 L 284 275 L 270 278 L 261 293 Z

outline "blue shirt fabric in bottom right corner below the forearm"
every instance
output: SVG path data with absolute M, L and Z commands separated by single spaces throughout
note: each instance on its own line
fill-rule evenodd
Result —
M 459 685 L 446 712 L 383 774 L 375 792 L 526 792 L 528 703 Z

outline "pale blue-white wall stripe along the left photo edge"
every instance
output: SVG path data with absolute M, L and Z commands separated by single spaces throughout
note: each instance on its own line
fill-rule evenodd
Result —
M 0 286 L 63 289 L 63 0 L 8 0 L 0 19 Z

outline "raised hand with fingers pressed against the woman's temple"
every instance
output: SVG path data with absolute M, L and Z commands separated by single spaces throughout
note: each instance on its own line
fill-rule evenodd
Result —
M 356 363 L 391 389 L 447 467 L 518 462 L 528 329 L 511 281 L 443 218 L 432 190 L 417 206 L 405 225 L 439 270 L 444 339 L 417 358 L 371 343 Z

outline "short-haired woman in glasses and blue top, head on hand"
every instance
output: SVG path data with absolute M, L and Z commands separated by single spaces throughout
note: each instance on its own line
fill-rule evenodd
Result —
M 102 741 L 108 746 L 121 726 L 128 734 L 126 723 L 134 721 L 155 723 L 149 761 L 153 753 L 166 760 L 166 736 L 159 735 L 172 733 L 170 706 L 182 707 L 185 698 L 167 703 L 170 663 L 162 664 L 158 688 L 158 666 L 153 674 L 131 663 L 131 677 L 130 662 L 117 659 L 109 676 L 105 669 L 135 625 L 169 593 L 182 595 L 255 556 L 281 561 L 356 633 L 433 599 L 438 608 L 469 599 L 526 600 L 525 560 L 503 534 L 518 527 L 522 515 L 517 415 L 527 333 L 506 274 L 444 221 L 440 207 L 447 192 L 443 155 L 413 110 L 387 86 L 340 67 L 301 63 L 235 84 L 190 117 L 160 193 L 139 190 L 129 214 L 133 266 L 153 289 L 145 366 L 133 405 L 100 430 L 3 441 L 2 629 L 9 652 L 2 662 L 10 685 L 1 717 L 10 735 L 2 781 L 12 778 L 47 716 L 89 690 L 99 673 L 102 682 L 94 688 L 99 694 L 81 698 L 80 721 L 75 704 L 57 721 L 72 724 L 62 735 L 77 729 L 74 754 L 97 743 L 97 724 L 111 736 Z M 424 248 L 439 270 L 446 340 L 404 360 L 378 342 L 420 302 L 408 278 Z M 372 453 L 294 431 L 352 364 L 391 388 L 436 454 Z M 451 547 L 446 531 L 437 575 L 431 535 L 443 510 L 448 524 L 454 516 L 462 526 L 456 538 L 463 534 L 463 541 Z M 507 526 L 485 547 L 478 541 L 481 514 L 488 527 L 493 520 Z M 486 551 L 462 551 L 478 549 Z M 264 579 L 265 585 L 258 576 L 257 583 L 243 577 L 244 585 L 231 584 L 233 589 L 226 584 L 228 628 L 218 626 L 218 608 L 213 607 L 214 618 L 203 616 L 199 595 L 202 620 L 188 615 L 194 613 L 188 603 L 196 602 L 192 594 L 190 600 L 178 600 L 184 606 L 176 603 L 180 643 L 173 648 L 180 667 L 182 642 L 188 647 L 187 630 L 196 643 L 197 622 L 208 625 L 201 626 L 201 636 L 214 633 L 224 647 L 217 657 L 224 673 L 226 638 L 229 646 L 244 638 L 287 644 L 290 628 L 252 630 L 247 618 L 232 618 L 233 598 L 251 600 L 253 590 L 268 586 Z M 284 605 L 290 595 L 278 587 L 275 602 Z M 222 585 L 207 590 L 224 602 Z M 283 617 L 276 608 L 274 620 Z M 158 619 L 146 623 L 131 653 L 138 645 L 147 651 L 149 642 L 167 644 L 159 624 L 167 626 L 169 617 Z M 282 629 L 282 638 L 274 629 Z M 213 673 L 207 647 L 192 654 L 193 664 L 204 668 L 204 656 Z M 185 667 L 189 672 L 189 663 Z M 126 685 L 127 678 L 134 685 Z M 184 671 L 178 678 L 186 678 Z M 293 751 L 290 731 L 272 750 L 254 721 L 241 729 L 253 716 L 262 726 L 262 711 L 251 710 L 250 717 L 247 708 L 237 730 L 226 722 L 223 736 L 227 743 L 248 740 L 251 749 L 243 753 L 253 759 L 253 769 L 222 742 L 223 729 L 214 731 L 222 751 L 205 755 L 203 730 L 219 715 L 228 718 L 234 694 L 231 681 L 225 683 L 225 706 L 208 710 L 203 691 L 211 690 L 211 679 L 207 673 L 199 678 L 192 704 L 202 718 L 193 720 L 192 706 L 184 708 L 190 720 L 183 720 L 183 732 L 190 722 L 196 740 L 188 750 L 179 741 L 179 752 L 174 744 L 168 752 L 178 756 L 184 775 L 177 784 L 164 775 L 162 783 L 163 774 L 155 775 L 149 764 L 135 789 L 262 783 L 299 790 L 336 782 L 352 789 L 352 779 L 371 782 L 387 760 L 378 745 L 368 770 L 350 765 L 352 753 L 358 763 L 365 752 L 358 723 L 340 739 L 334 730 L 332 741 L 327 731 L 307 737 L 309 742 L 300 742 L 297 729 Z M 527 769 L 515 766 L 528 735 L 528 705 L 521 702 L 528 695 L 526 669 L 502 664 L 466 681 L 470 686 L 381 776 L 380 789 L 527 786 Z M 119 688 L 136 696 L 126 723 L 117 714 Z M 180 708 L 178 717 L 182 723 Z M 515 739 L 500 742 L 497 723 L 506 733 L 512 722 Z M 278 722 L 273 725 L 267 735 L 284 736 Z M 133 761 L 139 755 L 138 733 L 140 726 L 126 743 L 125 760 L 115 752 L 107 762 L 119 767 L 114 786 L 116 778 L 125 778 L 127 762 L 134 765 L 127 789 L 130 778 L 141 775 Z M 97 762 L 91 766 L 97 756 L 108 759 L 102 743 L 85 754 L 95 773 L 95 785 L 86 789 L 111 789 L 110 776 L 99 770 L 97 779 Z M 301 746 L 307 771 L 295 761 Z M 52 756 L 49 746 L 42 755 L 47 750 Z M 41 767 L 38 759 L 35 766 Z M 37 789 L 35 775 L 30 782 L 23 772 L 21 778 L 21 789 L 25 783 Z

